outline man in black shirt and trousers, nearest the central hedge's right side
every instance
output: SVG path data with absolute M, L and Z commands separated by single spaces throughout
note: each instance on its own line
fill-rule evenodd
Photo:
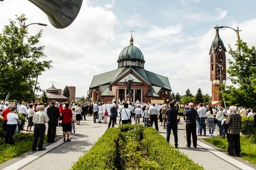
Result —
M 177 109 L 174 108 L 174 102 L 170 102 L 170 109 L 166 110 L 166 140 L 170 141 L 171 129 L 174 135 L 175 148 L 178 147 L 178 124 L 177 118 L 179 116 Z

